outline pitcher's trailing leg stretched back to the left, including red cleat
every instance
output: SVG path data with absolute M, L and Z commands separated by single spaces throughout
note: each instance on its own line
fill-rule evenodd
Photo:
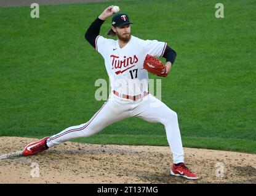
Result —
M 113 97 L 113 94 L 111 94 L 110 98 L 103 104 L 102 108 L 100 108 L 87 123 L 68 127 L 50 138 L 47 137 L 34 143 L 30 143 L 23 150 L 23 154 L 26 156 L 33 155 L 74 138 L 90 137 L 91 135 L 100 132 L 106 126 L 130 117 L 129 103 L 122 103 L 121 100 L 113 99 L 111 97 Z

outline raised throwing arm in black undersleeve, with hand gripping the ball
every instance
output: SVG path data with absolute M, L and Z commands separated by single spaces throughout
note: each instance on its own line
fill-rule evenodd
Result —
M 112 8 L 114 6 L 107 7 L 97 18 L 96 20 L 89 26 L 84 35 L 85 39 L 95 48 L 95 39 L 100 34 L 100 27 L 104 23 L 104 21 L 111 17 L 114 14 Z

